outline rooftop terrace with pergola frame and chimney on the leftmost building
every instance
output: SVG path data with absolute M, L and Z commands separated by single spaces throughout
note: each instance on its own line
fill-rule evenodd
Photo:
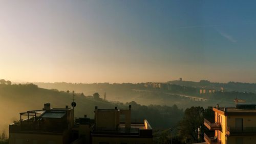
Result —
M 73 108 L 51 108 L 50 104 L 45 104 L 41 110 L 29 110 L 20 112 L 20 120 L 10 124 L 10 132 L 30 131 L 30 132 L 54 132 L 61 133 L 68 129 L 71 120 L 70 111 Z M 25 118 L 25 119 L 24 119 Z

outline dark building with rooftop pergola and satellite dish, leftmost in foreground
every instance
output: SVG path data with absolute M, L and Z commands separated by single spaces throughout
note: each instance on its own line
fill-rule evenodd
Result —
M 22 112 L 20 120 L 9 125 L 9 144 L 70 143 L 74 109 L 51 108 Z

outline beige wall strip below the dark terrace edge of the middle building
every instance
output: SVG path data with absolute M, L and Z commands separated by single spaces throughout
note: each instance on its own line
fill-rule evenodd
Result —
M 152 138 L 139 138 L 139 137 L 92 137 L 92 144 L 99 144 L 99 142 L 109 142 L 110 144 L 116 143 L 127 143 L 127 144 L 135 144 L 135 143 L 145 143 L 152 144 Z

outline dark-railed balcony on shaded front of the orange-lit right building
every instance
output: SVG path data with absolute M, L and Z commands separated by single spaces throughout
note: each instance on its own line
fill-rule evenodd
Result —
M 256 135 L 256 127 L 227 127 L 227 135 Z

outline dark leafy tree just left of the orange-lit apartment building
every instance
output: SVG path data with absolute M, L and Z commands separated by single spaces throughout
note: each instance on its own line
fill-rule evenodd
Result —
M 179 135 L 183 137 L 185 143 L 197 143 L 203 140 L 202 137 L 198 138 L 198 129 L 203 127 L 203 114 L 204 108 L 201 106 L 192 106 L 185 110 L 179 125 Z

